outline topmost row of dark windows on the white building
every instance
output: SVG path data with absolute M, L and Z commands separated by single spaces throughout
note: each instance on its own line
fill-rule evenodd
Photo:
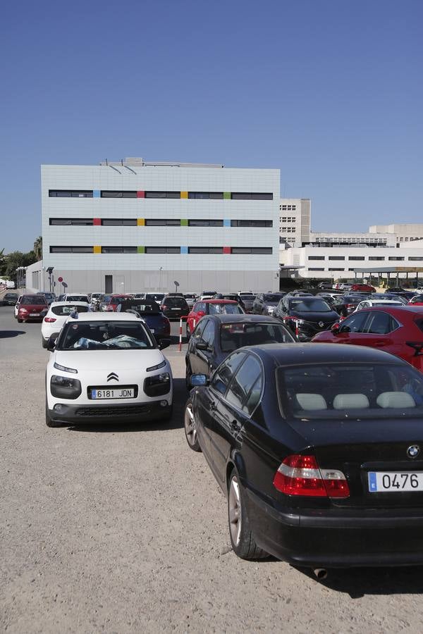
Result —
M 142 195 L 140 195 L 142 193 Z M 92 198 L 92 189 L 49 189 L 51 198 Z M 180 192 L 105 191 L 101 198 L 181 198 Z M 189 199 L 202 200 L 273 200 L 271 192 L 188 192 Z

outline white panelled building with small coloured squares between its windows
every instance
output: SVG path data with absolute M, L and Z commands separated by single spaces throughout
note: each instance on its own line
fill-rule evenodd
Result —
M 277 169 L 143 159 L 41 170 L 43 260 L 56 293 L 277 290 Z M 59 277 L 63 282 L 60 282 Z M 60 283 L 59 283 L 60 282 Z

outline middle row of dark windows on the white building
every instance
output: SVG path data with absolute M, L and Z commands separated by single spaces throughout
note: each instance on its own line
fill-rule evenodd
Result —
M 145 218 L 146 227 L 180 227 L 180 218 Z M 92 226 L 94 218 L 50 218 L 50 225 Z M 104 227 L 136 227 L 137 218 L 102 218 Z M 184 225 L 183 225 L 184 226 Z M 223 227 L 223 219 L 192 219 L 188 227 Z M 231 227 L 273 227 L 273 220 L 231 220 Z

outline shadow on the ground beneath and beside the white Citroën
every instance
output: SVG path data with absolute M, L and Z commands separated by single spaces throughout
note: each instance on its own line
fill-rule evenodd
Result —
M 173 379 L 173 414 L 170 421 L 142 421 L 140 423 L 125 423 L 125 418 L 116 423 L 84 423 L 68 426 L 69 431 L 90 433 L 124 433 L 145 432 L 180 429 L 183 427 L 183 412 L 185 402 L 188 399 L 188 391 L 185 387 L 185 379 Z M 64 425 L 66 426 L 66 425 Z

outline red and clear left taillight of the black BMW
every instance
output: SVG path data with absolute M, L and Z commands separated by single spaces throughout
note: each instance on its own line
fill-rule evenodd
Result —
M 350 488 L 342 471 L 321 469 L 314 456 L 288 456 L 276 471 L 274 487 L 285 495 L 348 497 Z

